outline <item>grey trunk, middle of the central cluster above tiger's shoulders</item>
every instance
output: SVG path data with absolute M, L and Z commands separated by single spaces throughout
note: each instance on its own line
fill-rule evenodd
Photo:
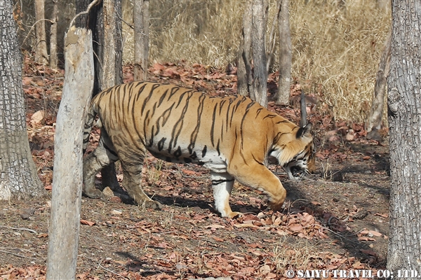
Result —
M 265 5 L 263 0 L 253 0 L 251 45 L 253 48 L 253 87 L 255 101 L 267 106 L 267 70 L 265 51 Z

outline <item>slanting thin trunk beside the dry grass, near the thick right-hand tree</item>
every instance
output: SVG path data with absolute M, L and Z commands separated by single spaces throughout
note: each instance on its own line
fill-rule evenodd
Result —
M 392 43 L 392 30 L 387 36 L 382 57 L 380 57 L 379 68 L 375 77 L 375 87 L 373 92 L 373 103 L 367 120 L 367 132 L 380 130 L 382 127 L 383 106 L 385 104 L 385 93 L 387 76 L 390 69 L 390 45 Z

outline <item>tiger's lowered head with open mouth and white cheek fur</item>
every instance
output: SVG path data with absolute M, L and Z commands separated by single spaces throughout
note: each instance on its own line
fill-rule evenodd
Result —
M 301 179 L 305 174 L 314 173 L 316 169 L 311 129 L 312 124 L 307 123 L 304 127 L 298 128 L 296 134 L 279 139 L 277 147 L 271 154 L 282 165 L 291 180 Z

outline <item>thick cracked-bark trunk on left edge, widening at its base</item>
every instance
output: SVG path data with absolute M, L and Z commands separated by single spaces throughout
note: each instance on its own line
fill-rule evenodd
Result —
M 0 1 L 0 200 L 45 195 L 29 149 L 12 1 Z

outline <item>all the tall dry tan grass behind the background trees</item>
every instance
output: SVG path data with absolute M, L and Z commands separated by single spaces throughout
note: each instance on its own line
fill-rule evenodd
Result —
M 123 1 L 131 22 L 132 0 Z M 375 73 L 390 26 L 388 0 L 290 1 L 293 79 L 320 96 L 336 120 L 362 123 L 374 90 Z M 199 62 L 224 67 L 239 48 L 243 0 L 162 0 L 150 2 L 149 61 Z M 276 1 L 269 1 L 267 37 Z M 276 32 L 275 32 L 276 33 Z M 133 31 L 123 27 L 124 62 L 133 60 Z M 276 38 L 279 43 L 279 38 Z M 275 48 L 276 71 L 278 53 Z

